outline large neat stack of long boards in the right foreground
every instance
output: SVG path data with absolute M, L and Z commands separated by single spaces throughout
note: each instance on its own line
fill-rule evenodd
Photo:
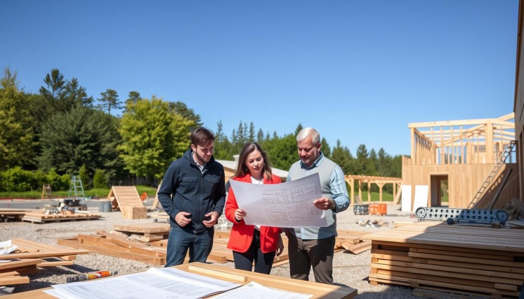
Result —
M 522 230 L 420 222 L 366 238 L 372 284 L 518 298 L 524 283 Z

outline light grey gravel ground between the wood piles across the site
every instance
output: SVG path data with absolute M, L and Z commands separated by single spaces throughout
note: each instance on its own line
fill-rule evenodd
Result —
M 147 205 L 147 203 L 146 203 Z M 376 231 L 390 228 L 393 222 L 414 222 L 409 213 L 398 211 L 399 206 L 388 205 L 387 216 L 354 215 L 352 208 L 337 216 L 337 228 L 344 230 Z M 351 211 L 350 211 L 351 210 Z M 95 212 L 95 211 L 93 211 Z M 119 212 L 100 213 L 101 220 L 84 220 L 47 224 L 30 224 L 27 222 L 3 223 L 0 225 L 0 241 L 12 238 L 24 238 L 31 241 L 42 242 L 58 246 L 56 239 L 73 237 L 78 234 L 94 235 L 95 230 L 112 230 L 113 225 L 151 223 L 152 219 L 124 220 Z M 367 228 L 356 224 L 358 220 L 382 220 L 389 225 L 380 228 Z M 368 282 L 370 251 L 354 255 L 346 251 L 335 253 L 333 262 L 333 278 L 337 285 L 345 285 L 358 290 L 356 298 L 420 298 L 412 295 L 412 289 L 404 286 L 378 285 L 372 286 Z M 219 264 L 223 267 L 233 268 L 233 262 Z M 65 283 L 67 277 L 75 274 L 99 271 L 117 270 L 119 274 L 129 274 L 145 271 L 149 264 L 114 258 L 103 254 L 80 254 L 72 266 L 48 267 L 39 269 L 35 274 L 30 274 L 31 282 L 15 287 L 15 292 L 47 287 L 52 284 Z M 289 264 L 283 264 L 272 269 L 271 274 L 289 277 Z M 310 279 L 314 280 L 313 272 Z

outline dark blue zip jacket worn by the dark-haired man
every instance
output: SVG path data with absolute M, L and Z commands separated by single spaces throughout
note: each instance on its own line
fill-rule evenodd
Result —
M 201 172 L 191 149 L 169 165 L 158 191 L 158 200 L 169 215 L 171 226 L 178 226 L 174 217 L 179 212 L 191 213 L 191 222 L 181 227 L 190 232 L 208 229 L 202 223 L 205 214 L 215 211 L 222 215 L 225 196 L 222 165 L 211 157 Z

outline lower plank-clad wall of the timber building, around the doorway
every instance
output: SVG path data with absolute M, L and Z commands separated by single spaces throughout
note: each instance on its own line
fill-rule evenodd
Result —
M 431 175 L 447 175 L 449 185 L 449 207 L 466 208 L 478 191 L 478 188 L 486 180 L 488 173 L 492 170 L 493 164 L 444 164 L 444 165 L 403 165 L 402 166 L 402 185 L 411 185 L 411 202 L 414 200 L 415 185 L 429 185 L 431 194 Z M 514 168 L 515 163 L 505 164 L 499 173 L 506 173 L 508 168 Z M 498 190 L 502 178 L 497 178 L 492 182 L 492 186 L 486 191 L 486 196 L 493 195 Z M 518 197 L 519 178 L 509 179 L 507 185 L 499 195 L 495 207 L 500 207 L 507 203 L 511 198 Z M 484 199 L 481 199 L 485 201 Z M 487 201 L 489 202 L 489 200 Z M 481 202 L 482 203 L 482 202 Z M 428 205 L 429 205 L 428 201 Z

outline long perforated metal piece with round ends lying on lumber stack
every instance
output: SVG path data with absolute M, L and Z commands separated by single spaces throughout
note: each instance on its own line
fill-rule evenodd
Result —
M 419 207 L 415 211 L 417 218 L 422 220 L 446 220 L 447 224 L 455 222 L 496 224 L 494 228 L 504 225 L 508 213 L 503 209 L 457 209 L 438 207 Z

